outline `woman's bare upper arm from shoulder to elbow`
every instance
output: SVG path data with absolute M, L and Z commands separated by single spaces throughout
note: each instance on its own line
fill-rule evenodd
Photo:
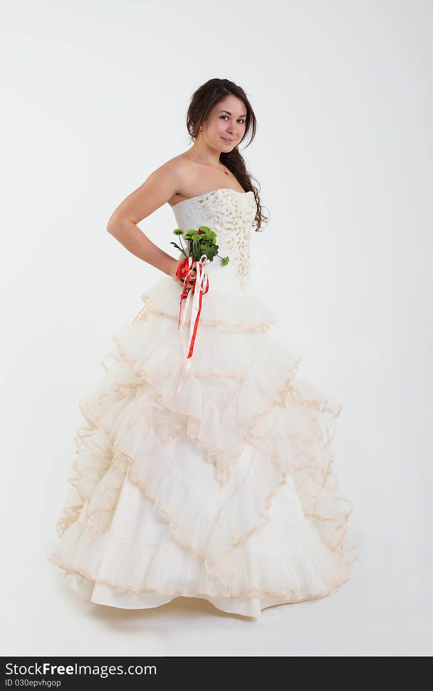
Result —
M 192 170 L 193 163 L 182 153 L 163 163 L 119 204 L 111 214 L 107 228 L 125 220 L 139 223 L 162 205 L 170 203 L 178 192 L 182 193 Z

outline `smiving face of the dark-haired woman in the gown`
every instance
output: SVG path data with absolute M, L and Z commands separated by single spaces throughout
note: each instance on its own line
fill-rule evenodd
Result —
M 220 101 L 203 124 L 202 135 L 218 151 L 231 151 L 245 133 L 247 108 L 238 97 L 229 95 Z

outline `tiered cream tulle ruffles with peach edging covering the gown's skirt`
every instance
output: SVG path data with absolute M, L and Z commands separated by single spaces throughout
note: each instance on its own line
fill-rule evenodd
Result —
M 297 377 L 300 357 L 267 332 L 271 317 L 256 296 L 242 316 L 238 297 L 233 306 L 213 295 L 176 393 L 184 359 L 171 283 L 113 334 L 104 379 L 80 403 L 86 423 L 50 560 L 124 592 L 282 601 L 330 594 L 354 561 L 352 504 L 338 495 L 330 446 L 340 404 Z M 215 492 L 227 490 L 223 502 L 212 504 L 182 476 L 171 455 L 177 437 L 202 449 Z M 251 464 L 231 491 L 246 446 Z M 126 481 L 164 519 L 164 543 L 110 530 Z M 267 553 L 260 531 L 287 483 L 307 532 L 294 553 Z

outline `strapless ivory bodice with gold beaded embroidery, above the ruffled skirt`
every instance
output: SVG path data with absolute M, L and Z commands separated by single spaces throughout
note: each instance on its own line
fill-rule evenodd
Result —
M 217 235 L 219 256 L 205 265 L 209 285 L 230 292 L 249 292 L 251 227 L 257 212 L 253 192 L 215 189 L 184 199 L 172 209 L 177 227 L 185 232 L 206 225 Z M 186 244 L 183 239 L 182 244 Z M 220 259 L 224 256 L 230 259 L 226 266 L 222 266 Z

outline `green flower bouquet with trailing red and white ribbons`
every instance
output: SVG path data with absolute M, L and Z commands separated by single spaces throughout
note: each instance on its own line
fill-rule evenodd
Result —
M 200 319 L 200 312 L 202 310 L 202 296 L 209 290 L 209 278 L 204 269 L 204 264 L 213 261 L 218 254 L 218 245 L 216 244 L 216 233 L 213 232 L 206 225 L 200 225 L 198 230 L 191 229 L 186 234 L 182 228 L 176 228 L 173 233 L 179 236 L 180 245 L 170 243 L 184 254 L 185 258 L 180 261 L 176 270 L 176 276 L 184 281 L 184 287 L 180 295 L 179 321 L 177 329 L 180 328 L 180 316 L 182 312 L 183 301 L 186 299 L 184 316 L 182 319 L 182 326 L 185 322 L 185 311 L 193 296 L 193 307 L 191 310 L 191 326 L 189 331 L 189 348 L 186 354 L 186 359 L 191 357 L 194 350 L 195 337 L 197 334 L 198 320 Z M 184 235 L 187 246 L 182 245 L 181 235 Z M 223 266 L 229 263 L 229 257 L 220 257 Z M 191 272 L 195 271 L 196 275 L 191 276 Z M 191 285 L 190 285 L 191 283 Z

